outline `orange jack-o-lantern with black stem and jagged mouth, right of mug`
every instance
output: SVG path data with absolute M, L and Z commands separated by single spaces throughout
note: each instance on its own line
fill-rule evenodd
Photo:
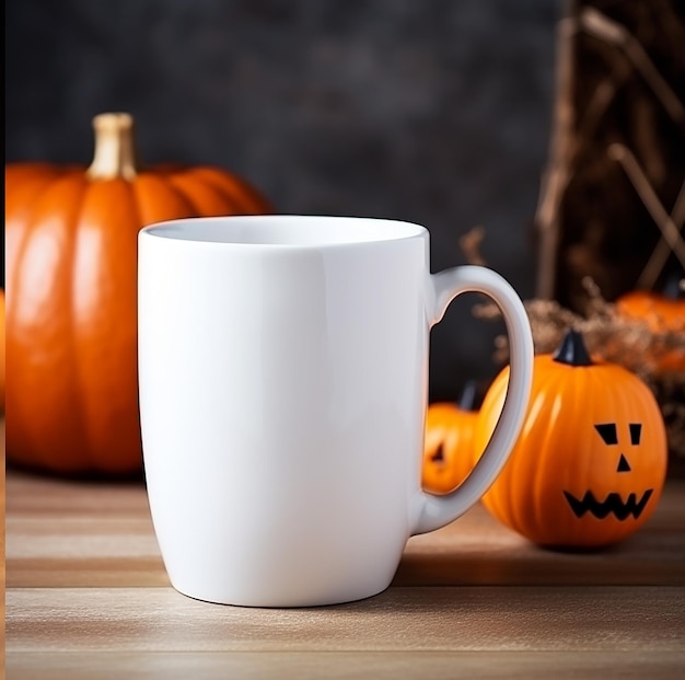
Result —
M 495 429 L 508 381 L 507 367 L 485 396 L 476 451 Z M 483 503 L 541 545 L 609 545 L 652 515 L 666 461 L 665 426 L 652 392 L 625 368 L 593 362 L 581 335 L 570 331 L 554 355 L 535 357 L 521 435 Z

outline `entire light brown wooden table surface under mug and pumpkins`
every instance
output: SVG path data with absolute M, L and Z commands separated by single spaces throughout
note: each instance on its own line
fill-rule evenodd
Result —
M 685 482 L 599 553 L 533 546 L 480 505 L 336 607 L 173 590 L 141 482 L 7 474 L 7 671 L 36 678 L 685 678 Z

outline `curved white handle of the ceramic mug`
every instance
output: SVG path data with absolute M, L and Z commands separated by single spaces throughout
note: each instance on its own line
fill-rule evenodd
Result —
M 411 535 L 439 529 L 475 505 L 497 479 L 521 431 L 533 380 L 533 335 L 523 302 L 496 272 L 467 265 L 429 275 L 429 326 L 444 315 L 463 292 L 481 292 L 502 312 L 509 335 L 511 372 L 502 413 L 483 456 L 468 476 L 452 493 L 434 496 L 420 491 L 413 507 Z M 432 309 L 431 309 L 432 308 Z

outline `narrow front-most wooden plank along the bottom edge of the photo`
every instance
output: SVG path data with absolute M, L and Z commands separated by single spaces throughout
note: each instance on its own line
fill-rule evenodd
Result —
M 681 680 L 683 655 L 672 652 L 177 652 L 49 653 L 8 659 L 22 680 Z M 113 669 L 116 669 L 113 672 Z

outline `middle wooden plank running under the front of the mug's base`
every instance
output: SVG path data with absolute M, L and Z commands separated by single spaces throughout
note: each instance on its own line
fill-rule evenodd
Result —
M 251 609 L 171 588 L 11 589 L 8 648 L 28 652 L 601 652 L 682 649 L 671 587 L 390 588 L 349 604 Z

